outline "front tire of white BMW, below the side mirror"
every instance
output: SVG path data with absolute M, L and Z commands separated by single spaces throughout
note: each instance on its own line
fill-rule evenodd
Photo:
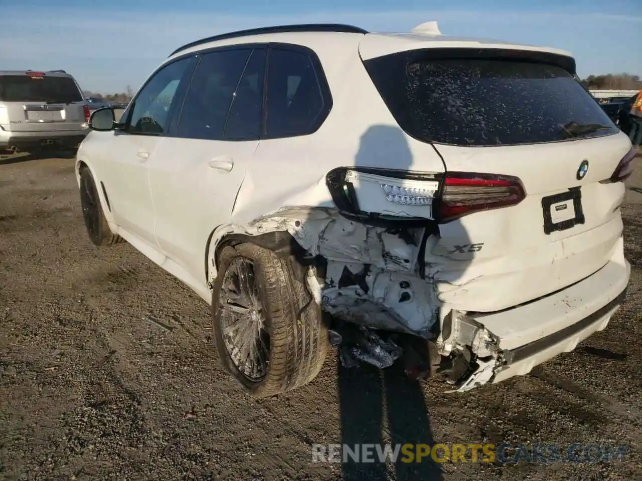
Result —
M 80 205 L 87 234 L 94 245 L 110 246 L 123 241 L 122 237 L 113 233 L 109 228 L 100 205 L 96 182 L 87 167 L 83 167 L 80 171 Z

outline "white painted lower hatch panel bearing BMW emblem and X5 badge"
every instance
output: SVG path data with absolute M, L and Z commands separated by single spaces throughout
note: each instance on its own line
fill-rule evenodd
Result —
M 600 181 L 611 176 L 629 151 L 623 133 L 541 145 L 437 148 L 448 171 L 516 176 L 526 191 L 518 205 L 466 215 L 439 227 L 440 237 L 429 244 L 426 264 L 443 303 L 482 312 L 509 308 L 589 276 L 613 255 L 622 232 L 618 207 L 624 184 Z M 577 180 L 585 159 L 589 171 Z M 542 199 L 574 187 L 582 194 L 584 223 L 546 234 Z M 558 221 L 575 217 L 573 203 L 566 205 L 562 214 L 557 212 Z M 473 244 L 483 246 L 458 250 Z

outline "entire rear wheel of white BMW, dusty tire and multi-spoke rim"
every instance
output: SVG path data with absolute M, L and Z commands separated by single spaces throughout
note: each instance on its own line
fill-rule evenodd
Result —
M 317 376 L 327 328 L 293 258 L 244 243 L 223 249 L 213 285 L 214 343 L 245 391 L 268 397 Z

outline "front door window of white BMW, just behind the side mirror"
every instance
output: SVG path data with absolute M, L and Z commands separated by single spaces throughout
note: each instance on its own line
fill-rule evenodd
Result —
M 134 99 L 127 131 L 130 133 L 162 134 L 167 131 L 169 109 L 178 85 L 185 81 L 184 74 L 191 58 L 169 63 L 146 83 Z

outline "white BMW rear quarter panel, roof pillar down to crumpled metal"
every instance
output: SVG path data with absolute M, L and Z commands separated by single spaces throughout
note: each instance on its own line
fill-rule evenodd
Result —
M 213 233 L 208 280 L 216 276 L 214 254 L 227 235 L 286 231 L 311 256 L 327 263 L 315 296 L 325 310 L 352 321 L 428 335 L 438 317 L 432 286 L 421 278 L 417 264 L 423 230 L 391 232 L 345 219 L 325 179 L 337 167 L 439 174 L 444 163 L 431 145 L 399 128 L 356 45 L 340 58 L 336 49 L 315 51 L 324 65 L 332 110 L 313 135 L 259 142 L 230 223 Z M 346 76 L 354 81 L 345 82 Z M 403 205 L 386 201 L 380 185 L 363 187 L 364 210 L 404 214 Z

